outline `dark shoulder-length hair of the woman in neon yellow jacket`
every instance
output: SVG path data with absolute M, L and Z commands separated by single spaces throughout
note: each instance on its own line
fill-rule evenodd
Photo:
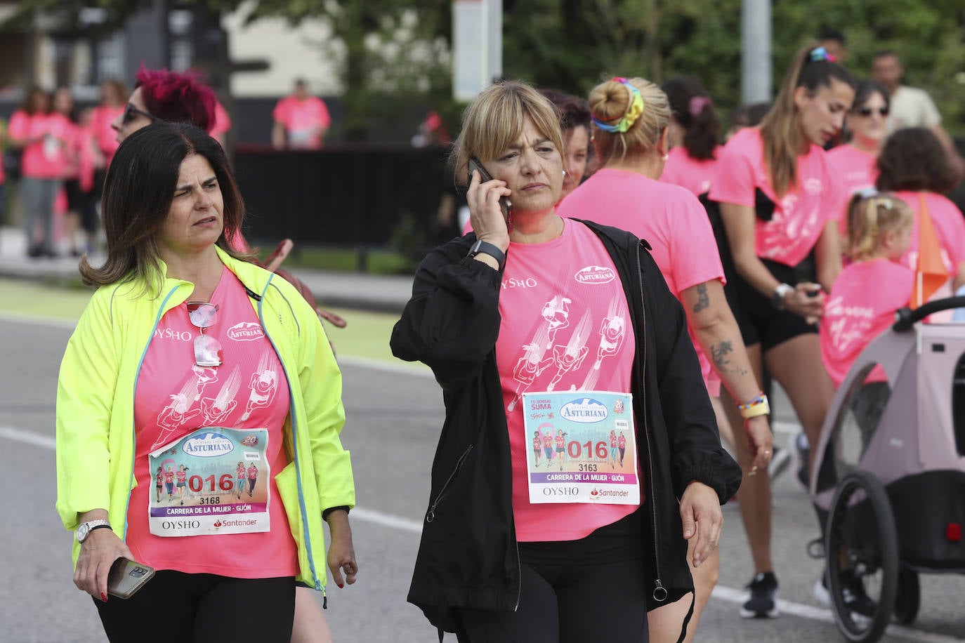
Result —
M 98 268 L 91 266 L 86 255 L 80 260 L 85 284 L 143 279 L 154 292 L 161 279 L 155 233 L 171 210 L 181 163 L 191 154 L 207 159 L 221 189 L 224 230 L 217 245 L 235 258 L 250 258 L 232 250 L 226 241 L 241 229 L 244 201 L 224 150 L 194 125 L 154 122 L 125 138 L 111 161 L 101 202 L 107 260 Z

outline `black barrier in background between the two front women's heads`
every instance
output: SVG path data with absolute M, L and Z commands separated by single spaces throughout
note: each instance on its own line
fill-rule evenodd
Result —
M 362 249 L 389 245 L 406 215 L 428 225 L 447 175 L 443 148 L 401 146 L 238 146 L 234 172 L 247 236 Z

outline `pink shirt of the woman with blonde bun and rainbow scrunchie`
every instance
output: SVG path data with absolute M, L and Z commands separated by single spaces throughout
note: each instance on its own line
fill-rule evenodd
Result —
M 680 293 L 706 281 L 724 283 L 724 268 L 707 212 L 685 188 L 625 170 L 598 170 L 573 190 L 558 211 L 622 228 L 650 244 L 670 291 Z M 720 395 L 721 381 L 694 334 L 703 382 L 712 397 Z

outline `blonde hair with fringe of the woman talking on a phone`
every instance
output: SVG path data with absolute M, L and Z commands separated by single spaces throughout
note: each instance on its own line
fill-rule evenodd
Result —
M 496 158 L 523 133 L 526 119 L 564 156 L 560 113 L 548 98 L 526 83 L 506 80 L 490 85 L 462 113 L 462 131 L 455 139 L 450 164 L 455 181 L 466 185 L 469 159 Z

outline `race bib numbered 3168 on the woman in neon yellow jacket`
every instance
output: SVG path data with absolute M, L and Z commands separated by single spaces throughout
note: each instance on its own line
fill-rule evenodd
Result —
M 161 485 L 148 505 L 155 536 L 268 531 L 267 429 L 198 429 L 153 451 Z

